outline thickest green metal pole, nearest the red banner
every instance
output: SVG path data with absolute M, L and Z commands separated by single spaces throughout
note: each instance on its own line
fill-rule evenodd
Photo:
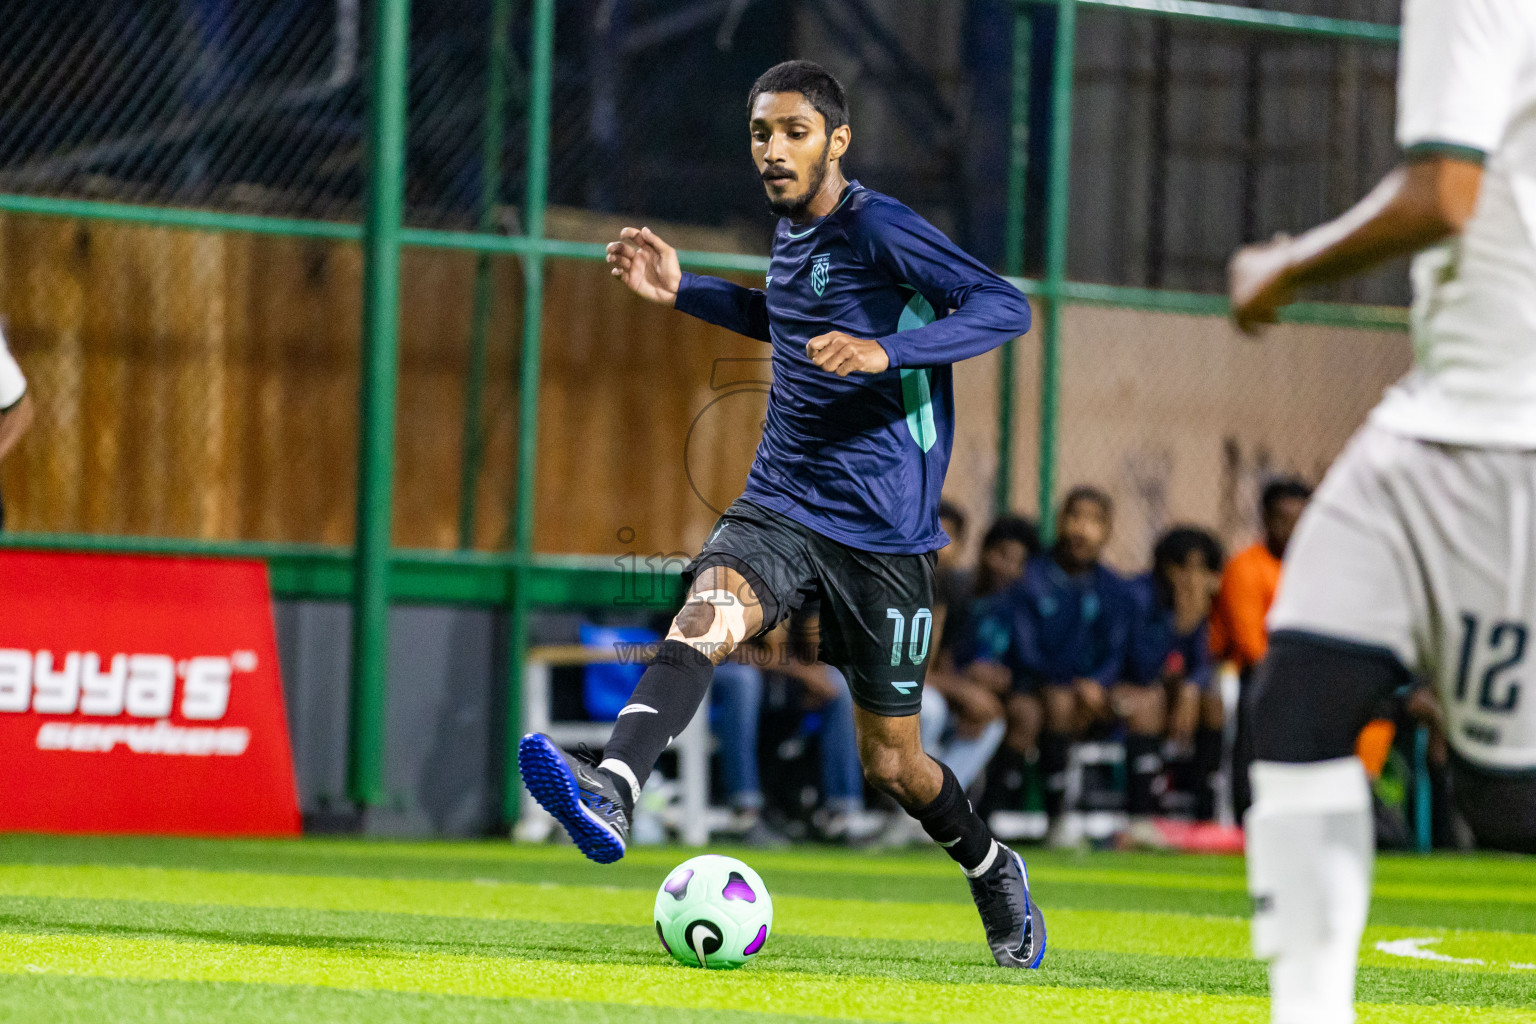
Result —
M 399 342 L 399 223 L 406 180 L 410 0 L 375 6 L 369 97 L 369 203 L 362 224 L 362 404 L 358 430 L 356 585 L 352 599 L 352 718 L 347 792 L 384 801 L 390 504 Z

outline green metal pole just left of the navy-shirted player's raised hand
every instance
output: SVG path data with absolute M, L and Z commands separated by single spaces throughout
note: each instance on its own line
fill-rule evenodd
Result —
M 528 183 L 524 200 L 528 238 L 544 238 L 550 178 L 550 84 L 554 77 L 554 0 L 535 0 L 533 58 L 528 61 Z M 518 507 L 513 525 L 511 622 L 507 642 L 507 775 L 502 818 L 518 821 L 522 778 L 522 668 L 528 656 L 528 580 L 533 570 L 533 484 L 539 451 L 539 341 L 544 327 L 544 253 L 522 263 L 522 379 L 518 388 Z

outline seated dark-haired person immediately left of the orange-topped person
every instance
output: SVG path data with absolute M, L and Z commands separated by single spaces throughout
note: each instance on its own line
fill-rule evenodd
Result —
M 1152 551 L 1152 571 L 1132 580 L 1135 623 L 1126 679 L 1161 685 L 1175 785 L 1195 797 L 1195 818 L 1215 817 L 1212 781 L 1221 769 L 1226 708 L 1210 654 L 1210 603 L 1221 582 L 1221 543 L 1206 530 L 1169 530 Z

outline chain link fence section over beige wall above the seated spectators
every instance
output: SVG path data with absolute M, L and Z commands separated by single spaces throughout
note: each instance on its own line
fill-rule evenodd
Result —
M 1078 484 L 1114 497 L 1106 557 L 1124 571 L 1149 568 L 1175 525 L 1235 551 L 1260 533 L 1264 485 L 1321 481 L 1409 358 L 1399 332 L 1283 324 L 1255 341 L 1215 316 L 1072 307 L 1055 497 Z M 1038 362 L 1021 370 L 1023 393 L 1038 393 Z M 1015 479 L 1032 493 L 1037 424 L 1023 427 Z

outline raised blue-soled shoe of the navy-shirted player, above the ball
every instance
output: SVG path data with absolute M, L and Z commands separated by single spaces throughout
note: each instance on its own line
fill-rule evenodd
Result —
M 559 821 L 581 852 L 599 864 L 624 857 L 630 812 L 619 781 L 598 771 L 596 758 L 571 757 L 542 732 L 518 743 L 518 769 L 539 806 Z

